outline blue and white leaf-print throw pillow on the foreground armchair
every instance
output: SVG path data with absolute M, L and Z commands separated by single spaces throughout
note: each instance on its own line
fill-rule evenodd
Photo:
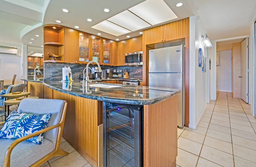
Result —
M 0 138 L 20 138 L 40 131 L 47 127 L 52 113 L 45 115 L 32 115 L 20 113 L 13 110 L 6 119 L 2 129 L 0 130 Z M 42 144 L 44 133 L 27 139 L 37 144 Z

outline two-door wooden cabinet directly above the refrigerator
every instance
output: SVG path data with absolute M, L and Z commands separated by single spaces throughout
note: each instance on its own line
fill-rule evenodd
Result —
M 189 18 L 143 31 L 144 45 L 186 38 L 189 36 Z

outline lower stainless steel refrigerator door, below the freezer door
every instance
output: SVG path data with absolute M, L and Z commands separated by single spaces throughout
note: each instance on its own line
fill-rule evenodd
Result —
M 149 86 L 180 89 L 178 97 L 178 126 L 185 125 L 185 82 L 182 73 L 149 73 Z M 184 89 L 183 89 L 184 88 Z M 150 90 L 149 90 L 150 93 Z

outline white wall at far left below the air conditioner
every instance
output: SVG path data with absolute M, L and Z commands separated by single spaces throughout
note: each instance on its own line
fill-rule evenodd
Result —
M 4 80 L 4 85 L 11 84 L 13 75 L 16 74 L 15 84 L 21 84 L 21 57 L 0 55 L 0 79 Z

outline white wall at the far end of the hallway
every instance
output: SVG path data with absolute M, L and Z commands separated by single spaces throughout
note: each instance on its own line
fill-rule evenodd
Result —
M 216 65 L 217 91 L 232 92 L 231 52 L 219 51 L 219 65 Z

